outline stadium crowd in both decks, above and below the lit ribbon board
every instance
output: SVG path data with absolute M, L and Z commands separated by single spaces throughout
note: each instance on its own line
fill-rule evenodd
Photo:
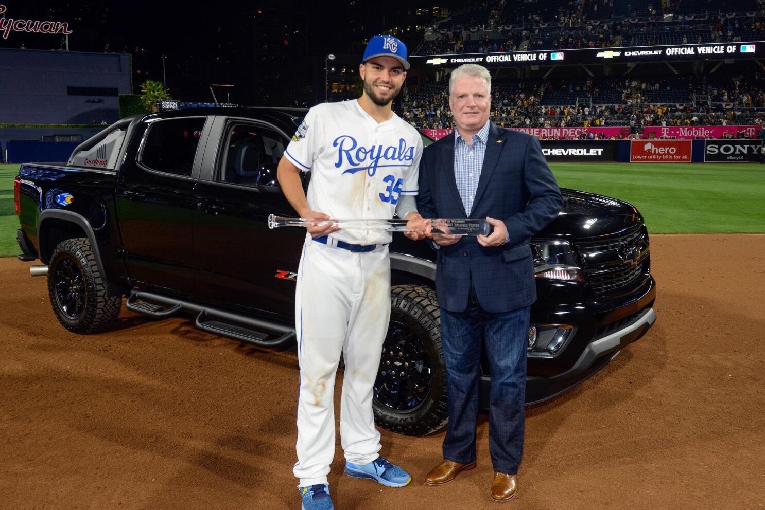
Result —
M 762 40 L 763 9 L 765 0 L 475 2 L 438 23 L 435 39 L 414 54 Z M 498 79 L 491 117 L 503 127 L 623 126 L 633 134 L 650 126 L 762 124 L 765 73 L 739 72 L 724 79 Z M 405 90 L 399 112 L 418 128 L 454 127 L 445 81 Z

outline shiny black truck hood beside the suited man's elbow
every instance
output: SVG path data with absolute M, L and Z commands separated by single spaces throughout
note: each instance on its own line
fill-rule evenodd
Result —
M 622 200 L 566 188 L 561 189 L 561 195 L 563 208 L 558 218 L 534 237 L 575 240 L 614 234 L 643 223 L 640 212 Z

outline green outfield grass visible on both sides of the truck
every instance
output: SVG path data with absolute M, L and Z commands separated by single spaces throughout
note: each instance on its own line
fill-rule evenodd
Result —
M 552 163 L 558 183 L 627 200 L 652 234 L 765 232 L 765 166 L 736 163 Z M 18 255 L 13 178 L 0 165 L 0 257 Z

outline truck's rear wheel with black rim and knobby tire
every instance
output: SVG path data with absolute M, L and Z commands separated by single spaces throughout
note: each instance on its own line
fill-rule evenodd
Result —
M 61 241 L 48 264 L 48 295 L 58 321 L 78 334 L 109 328 L 122 306 L 122 291 L 106 282 L 86 237 Z

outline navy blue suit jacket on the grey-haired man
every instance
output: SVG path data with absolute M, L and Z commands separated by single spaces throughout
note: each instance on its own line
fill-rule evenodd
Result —
M 473 210 L 465 214 L 454 179 L 454 133 L 425 148 L 420 162 L 417 208 L 424 218 L 504 221 L 509 242 L 482 247 L 464 236 L 440 247 L 435 287 L 448 311 L 467 308 L 472 281 L 483 310 L 499 313 L 536 300 L 529 238 L 558 216 L 561 191 L 536 137 L 490 124 Z

